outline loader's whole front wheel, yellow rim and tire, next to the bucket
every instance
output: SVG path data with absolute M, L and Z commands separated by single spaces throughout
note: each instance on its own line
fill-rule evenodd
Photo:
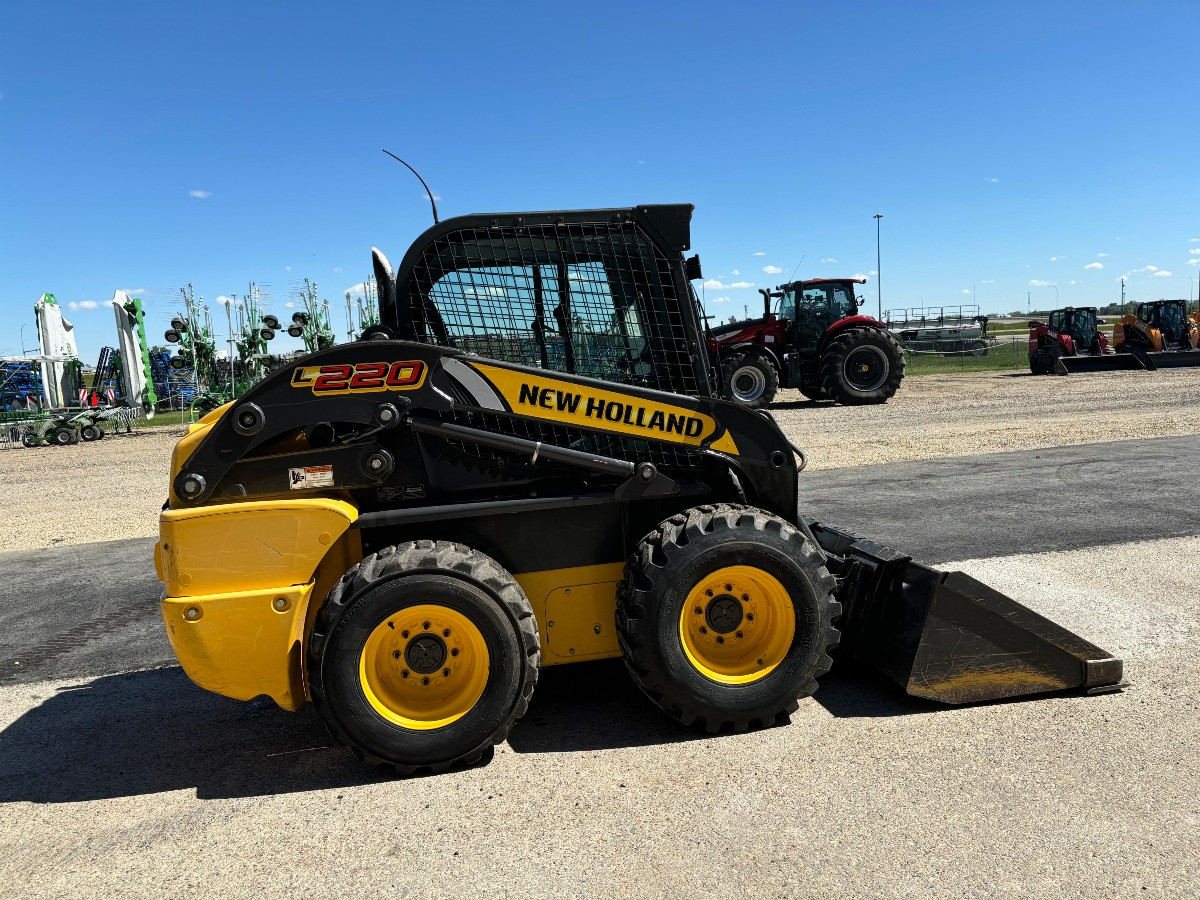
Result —
M 833 664 L 841 604 L 804 534 L 751 506 L 697 506 L 642 539 L 617 589 L 637 686 L 684 725 L 766 726 Z

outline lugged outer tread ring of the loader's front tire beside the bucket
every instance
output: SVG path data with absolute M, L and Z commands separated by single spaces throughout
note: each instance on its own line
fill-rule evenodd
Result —
M 712 533 L 714 529 L 734 532 L 745 528 L 758 532 L 775 530 L 785 541 L 794 542 L 796 556 L 804 559 L 806 568 L 815 575 L 816 589 L 830 596 L 820 624 L 818 646 L 823 650 L 815 661 L 800 695 L 809 696 L 817 689 L 816 679 L 833 666 L 830 654 L 841 640 L 841 632 L 834 626 L 834 622 L 841 614 L 841 604 L 832 599 L 836 580 L 823 565 L 820 551 L 803 532 L 779 516 L 754 506 L 732 503 L 706 504 L 676 514 L 638 542 L 625 563 L 625 577 L 617 587 L 617 642 L 634 682 L 667 715 L 684 725 L 702 727 L 714 734 L 720 731 L 738 732 L 780 722 L 799 708 L 799 697 L 782 701 L 778 709 L 768 714 L 713 716 L 712 710 L 708 710 L 706 716 L 704 710 L 690 706 L 683 697 L 674 696 L 670 683 L 654 678 L 653 667 L 647 659 L 646 642 L 642 638 L 647 595 L 654 587 L 647 570 L 650 566 L 661 568 L 668 560 L 672 548 L 688 544 L 691 536 Z

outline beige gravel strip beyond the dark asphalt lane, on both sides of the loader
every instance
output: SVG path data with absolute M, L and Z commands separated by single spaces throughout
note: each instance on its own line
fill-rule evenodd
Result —
M 814 469 L 1200 434 L 1196 370 L 922 376 L 884 406 L 836 407 L 781 391 L 773 413 Z M 157 534 L 180 428 L 94 444 L 0 451 L 10 515 L 0 551 Z M 42 524 L 44 523 L 44 524 Z

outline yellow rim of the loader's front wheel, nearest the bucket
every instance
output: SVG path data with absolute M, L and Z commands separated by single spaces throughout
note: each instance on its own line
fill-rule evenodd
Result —
M 762 569 L 718 569 L 689 592 L 679 637 L 688 660 L 706 678 L 757 682 L 784 661 L 796 637 L 792 598 Z

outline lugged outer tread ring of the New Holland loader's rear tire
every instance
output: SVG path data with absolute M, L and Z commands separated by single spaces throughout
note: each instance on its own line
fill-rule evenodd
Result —
M 403 766 L 378 758 L 358 746 L 341 728 L 337 718 L 325 700 L 322 686 L 320 660 L 329 635 L 334 632 L 338 616 L 349 608 L 352 601 L 379 582 L 412 572 L 436 571 L 454 575 L 475 583 L 486 590 L 505 610 L 516 628 L 517 638 L 524 649 L 522 654 L 522 689 L 512 712 L 502 725 L 487 737 L 476 749 L 454 760 L 430 766 Z M 362 762 L 372 766 L 390 766 L 398 775 L 410 775 L 416 772 L 437 774 L 455 766 L 474 766 L 485 754 L 490 754 L 496 744 L 503 742 L 512 726 L 529 708 L 529 698 L 538 684 L 538 672 L 541 665 L 541 642 L 538 636 L 538 620 L 533 606 L 526 598 L 508 570 L 490 556 L 472 550 L 454 541 L 416 540 L 389 546 L 365 557 L 361 563 L 352 566 L 334 586 L 325 598 L 317 618 L 307 649 L 308 694 L 313 706 L 324 720 L 330 734 L 344 746 L 348 746 Z

